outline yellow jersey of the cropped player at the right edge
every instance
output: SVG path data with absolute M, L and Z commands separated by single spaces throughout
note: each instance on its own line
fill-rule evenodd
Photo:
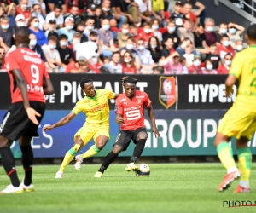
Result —
M 229 74 L 239 80 L 234 107 L 256 112 L 256 45 L 235 55 Z

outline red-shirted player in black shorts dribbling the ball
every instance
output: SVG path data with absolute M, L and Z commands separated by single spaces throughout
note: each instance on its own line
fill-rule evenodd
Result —
M 151 106 L 152 101 L 148 98 L 148 94 L 136 89 L 137 79 L 135 78 L 127 76 L 122 79 L 122 83 L 125 93 L 119 95 L 114 109 L 116 113 L 115 121 L 120 124 L 121 130 L 113 145 L 112 152 L 108 153 L 100 170 L 96 172 L 94 177 L 101 177 L 104 170 L 107 170 L 109 164 L 113 162 L 113 159 L 129 147 L 131 140 L 136 144 L 136 147 L 126 170 L 138 170 L 135 163 L 143 153 L 148 138 L 144 127 L 144 107 L 148 110 L 155 137 L 160 137 L 155 124 L 154 111 Z

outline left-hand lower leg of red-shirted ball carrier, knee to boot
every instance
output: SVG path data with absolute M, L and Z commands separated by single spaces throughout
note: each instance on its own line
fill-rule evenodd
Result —
M 101 177 L 105 170 L 108 169 L 108 166 L 113 163 L 113 160 L 124 150 L 124 147 L 121 147 L 117 144 L 113 146 L 113 150 L 108 153 L 104 158 L 104 161 L 101 165 L 101 168 L 96 172 L 94 177 Z

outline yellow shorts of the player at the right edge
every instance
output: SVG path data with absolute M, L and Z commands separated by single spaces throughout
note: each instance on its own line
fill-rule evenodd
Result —
M 225 113 L 218 126 L 218 132 L 229 137 L 240 139 L 241 136 L 251 140 L 256 130 L 256 112 L 249 112 L 231 107 Z

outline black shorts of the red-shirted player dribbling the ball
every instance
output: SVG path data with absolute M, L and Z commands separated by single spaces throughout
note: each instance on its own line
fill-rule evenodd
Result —
M 138 128 L 136 130 L 120 130 L 119 135 L 117 135 L 114 145 L 119 145 L 123 147 L 123 151 L 129 147 L 131 140 L 133 141 L 134 144 L 137 144 L 137 135 L 140 132 L 145 132 L 147 135 L 147 131 L 145 128 Z

